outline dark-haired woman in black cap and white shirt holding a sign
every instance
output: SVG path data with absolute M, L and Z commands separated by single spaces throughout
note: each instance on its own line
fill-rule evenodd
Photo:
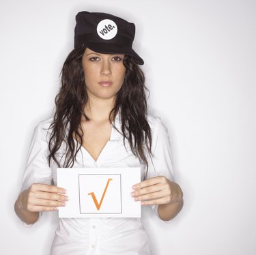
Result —
M 152 205 L 165 221 L 182 209 L 167 130 L 147 116 L 134 33 L 133 23 L 110 14 L 76 15 L 55 116 L 35 129 L 15 203 L 25 224 L 68 203 L 66 190 L 56 185 L 57 167 L 139 166 L 143 181 L 132 187 L 134 200 Z M 139 218 L 61 218 L 51 254 L 150 254 L 150 245 Z

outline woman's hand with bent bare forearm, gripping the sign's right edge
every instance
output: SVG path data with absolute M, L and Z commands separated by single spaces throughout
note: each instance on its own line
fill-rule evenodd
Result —
M 171 220 L 183 206 L 183 193 L 177 183 L 158 176 L 132 186 L 134 200 L 141 205 L 159 205 L 158 214 L 162 220 Z

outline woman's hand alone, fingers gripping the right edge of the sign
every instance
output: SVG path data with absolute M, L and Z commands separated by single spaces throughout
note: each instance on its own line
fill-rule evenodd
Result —
M 153 177 L 132 186 L 132 197 L 141 205 L 166 205 L 182 200 L 182 190 L 177 183 L 164 176 Z

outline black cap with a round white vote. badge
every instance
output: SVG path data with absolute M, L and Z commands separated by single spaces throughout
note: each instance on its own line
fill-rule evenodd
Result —
M 143 59 L 132 49 L 134 35 L 134 23 L 111 14 L 79 12 L 74 29 L 74 48 L 85 44 L 99 53 L 130 55 L 135 57 L 136 63 L 143 65 Z

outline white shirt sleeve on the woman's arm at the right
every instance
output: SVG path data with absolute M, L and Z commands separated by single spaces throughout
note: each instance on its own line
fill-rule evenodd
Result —
M 170 181 L 174 181 L 169 134 L 167 127 L 162 124 L 159 118 L 155 118 L 152 121 L 152 157 L 149 157 L 148 160 L 145 179 L 157 176 L 165 176 Z M 153 205 L 152 209 L 160 218 L 158 215 L 158 205 Z M 165 222 L 171 222 L 171 220 Z

